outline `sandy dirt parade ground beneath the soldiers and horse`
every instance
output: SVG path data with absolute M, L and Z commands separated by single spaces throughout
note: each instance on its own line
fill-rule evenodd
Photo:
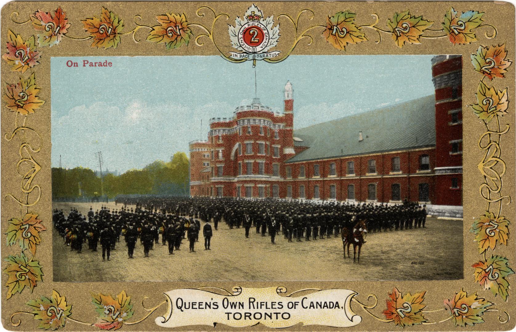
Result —
M 102 203 L 54 203 L 68 215 L 71 207 L 86 215 L 90 206 Z M 104 203 L 105 205 L 105 203 Z M 115 203 L 110 209 L 121 208 Z M 202 227 L 203 223 L 201 223 Z M 137 241 L 134 259 L 127 259 L 124 237 L 102 261 L 102 249 L 92 252 L 87 243 L 81 254 L 70 251 L 53 229 L 54 281 L 304 281 L 304 280 L 444 280 L 462 278 L 462 221 L 427 218 L 426 228 L 371 233 L 362 246 L 360 263 L 343 258 L 340 237 L 316 241 L 287 242 L 280 233 L 276 244 L 251 228 L 229 229 L 219 224 L 204 250 L 202 232 L 195 253 L 183 240 L 180 251 L 168 255 L 168 247 L 154 245 L 143 257 Z M 350 247 L 351 257 L 353 247 Z M 450 259 L 453 252 L 453 259 Z

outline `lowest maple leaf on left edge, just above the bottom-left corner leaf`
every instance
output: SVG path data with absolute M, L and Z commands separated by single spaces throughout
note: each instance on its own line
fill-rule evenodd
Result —
M 37 281 L 43 281 L 42 267 L 39 261 L 34 260 L 34 258 L 29 260 L 22 252 L 16 256 L 9 255 L 5 260 L 8 264 L 4 272 L 9 276 L 5 284 L 9 288 L 7 290 L 7 300 L 13 294 L 21 293 L 25 287 L 33 291 Z

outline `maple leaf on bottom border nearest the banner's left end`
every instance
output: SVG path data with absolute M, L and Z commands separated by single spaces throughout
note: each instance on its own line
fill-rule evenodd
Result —
M 122 291 L 113 298 L 110 295 L 93 295 L 92 301 L 96 307 L 95 311 L 99 313 L 99 318 L 94 324 L 101 329 L 119 329 L 122 327 L 125 320 L 133 317 L 133 305 L 131 304 L 131 297 Z

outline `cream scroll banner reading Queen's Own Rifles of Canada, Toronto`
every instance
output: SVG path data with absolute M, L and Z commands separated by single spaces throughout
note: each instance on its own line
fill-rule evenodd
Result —
M 362 321 L 351 310 L 351 299 L 357 294 L 352 290 L 327 289 L 295 297 L 281 296 L 280 293 L 286 292 L 283 287 L 237 287 L 233 291 L 233 294 L 228 292 L 228 295 L 199 289 L 166 292 L 167 313 L 157 317 L 156 324 L 178 327 L 215 326 L 220 323 L 244 327 L 261 323 L 267 327 L 282 328 L 303 323 L 351 327 Z

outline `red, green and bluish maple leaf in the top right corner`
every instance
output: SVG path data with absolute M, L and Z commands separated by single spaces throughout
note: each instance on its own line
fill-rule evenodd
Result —
M 444 22 L 442 23 L 450 42 L 455 45 L 471 44 L 476 41 L 476 35 L 472 30 L 482 23 L 483 14 L 470 10 L 459 15 L 455 9 L 450 8 L 444 15 Z

